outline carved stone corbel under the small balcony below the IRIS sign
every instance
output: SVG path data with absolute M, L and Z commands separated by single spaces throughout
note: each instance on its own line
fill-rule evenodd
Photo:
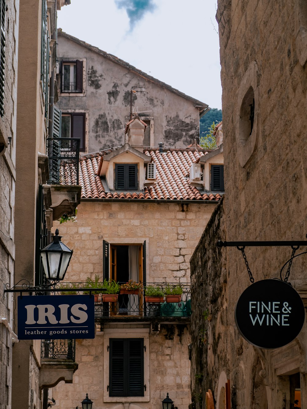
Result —
M 40 369 L 40 388 L 52 388 L 60 381 L 72 383 L 72 375 L 78 369 L 77 362 L 63 362 L 63 360 L 42 360 Z

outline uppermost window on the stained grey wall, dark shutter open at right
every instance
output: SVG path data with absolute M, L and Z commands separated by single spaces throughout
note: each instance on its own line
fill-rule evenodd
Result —
M 61 92 L 83 92 L 83 62 L 62 61 Z

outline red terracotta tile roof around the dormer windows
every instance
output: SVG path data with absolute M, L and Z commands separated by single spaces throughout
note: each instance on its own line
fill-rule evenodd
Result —
M 114 149 L 113 149 L 114 150 Z M 81 198 L 94 199 L 142 199 L 142 200 L 211 200 L 221 199 L 219 193 L 203 193 L 189 184 L 190 166 L 198 163 L 206 152 L 196 149 L 170 149 L 160 153 L 158 150 L 145 150 L 145 155 L 156 163 L 156 181 L 144 188 L 144 192 L 106 192 L 99 176 L 103 156 L 111 152 L 107 149 L 102 152 L 84 155 L 80 158 L 79 184 Z M 65 169 L 63 178 L 73 182 Z M 70 172 L 71 173 L 71 172 Z

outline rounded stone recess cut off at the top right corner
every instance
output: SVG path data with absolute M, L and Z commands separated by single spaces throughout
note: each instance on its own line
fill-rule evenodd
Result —
M 295 4 L 295 43 L 300 65 L 307 61 L 307 1 L 296 0 Z

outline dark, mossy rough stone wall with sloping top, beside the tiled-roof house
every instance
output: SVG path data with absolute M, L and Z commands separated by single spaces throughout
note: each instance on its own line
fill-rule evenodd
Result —
M 191 391 L 190 409 L 205 408 L 205 392 L 217 395 L 221 365 L 229 373 L 230 355 L 225 328 L 229 326 L 227 309 L 226 252 L 217 248 L 225 235 L 222 202 L 214 209 L 201 240 L 190 260 L 191 265 Z M 228 345 L 227 345 L 228 344 Z M 225 347 L 227 345 L 227 347 Z

